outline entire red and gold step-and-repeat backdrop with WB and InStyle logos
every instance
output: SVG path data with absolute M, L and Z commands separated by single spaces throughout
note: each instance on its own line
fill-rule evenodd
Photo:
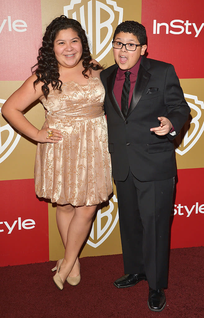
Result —
M 46 26 L 61 14 L 86 30 L 93 58 L 114 63 L 112 37 L 125 20 L 147 31 L 147 57 L 172 63 L 191 107 L 189 121 L 175 140 L 178 182 L 171 216 L 171 248 L 204 245 L 204 18 L 198 0 L 7 0 L 0 3 L 0 110 L 31 75 Z M 25 116 L 37 128 L 44 108 L 36 102 Z M 37 198 L 33 170 L 36 143 L 0 114 L 0 266 L 62 258 L 56 205 Z M 117 193 L 98 207 L 82 256 L 121 253 Z

